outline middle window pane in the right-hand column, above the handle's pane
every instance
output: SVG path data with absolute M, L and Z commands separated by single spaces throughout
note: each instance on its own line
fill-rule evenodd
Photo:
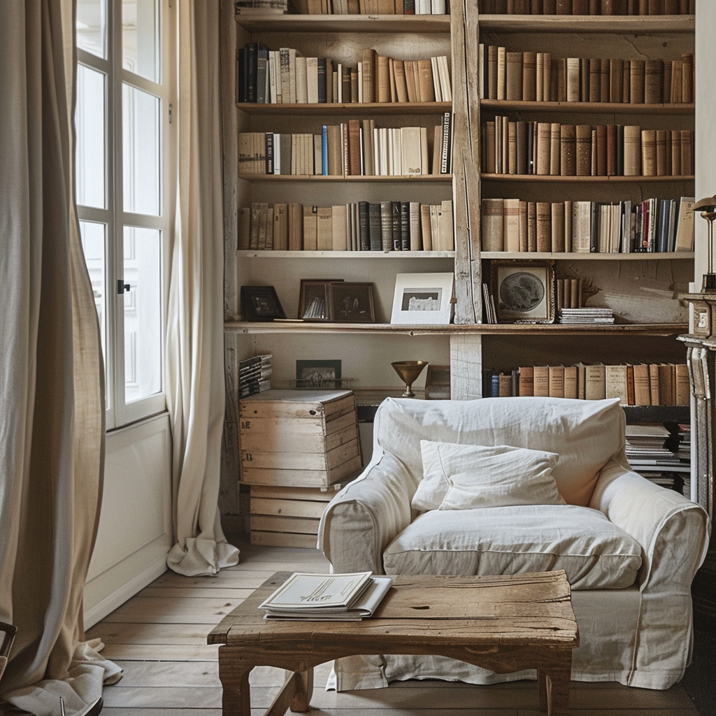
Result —
M 128 84 L 122 86 L 124 208 L 160 213 L 160 100 Z

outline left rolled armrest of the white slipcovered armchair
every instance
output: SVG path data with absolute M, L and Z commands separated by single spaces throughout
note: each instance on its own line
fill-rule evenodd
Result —
M 415 484 L 392 453 L 371 460 L 321 517 L 318 547 L 338 572 L 384 574 L 383 551 L 411 521 Z

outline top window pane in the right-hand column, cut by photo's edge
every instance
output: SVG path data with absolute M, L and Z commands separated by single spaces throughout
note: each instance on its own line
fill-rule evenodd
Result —
M 122 0 L 122 67 L 161 82 L 158 0 Z

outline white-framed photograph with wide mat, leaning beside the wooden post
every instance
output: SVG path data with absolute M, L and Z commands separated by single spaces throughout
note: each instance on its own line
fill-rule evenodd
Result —
M 447 325 L 453 318 L 450 274 L 397 274 L 390 322 Z

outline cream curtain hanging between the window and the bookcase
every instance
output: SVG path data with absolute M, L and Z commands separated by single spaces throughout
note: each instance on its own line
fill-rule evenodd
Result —
M 178 199 L 167 332 L 176 543 L 167 563 L 180 574 L 217 574 L 238 562 L 218 512 L 224 414 L 219 0 L 182 0 L 178 23 Z

